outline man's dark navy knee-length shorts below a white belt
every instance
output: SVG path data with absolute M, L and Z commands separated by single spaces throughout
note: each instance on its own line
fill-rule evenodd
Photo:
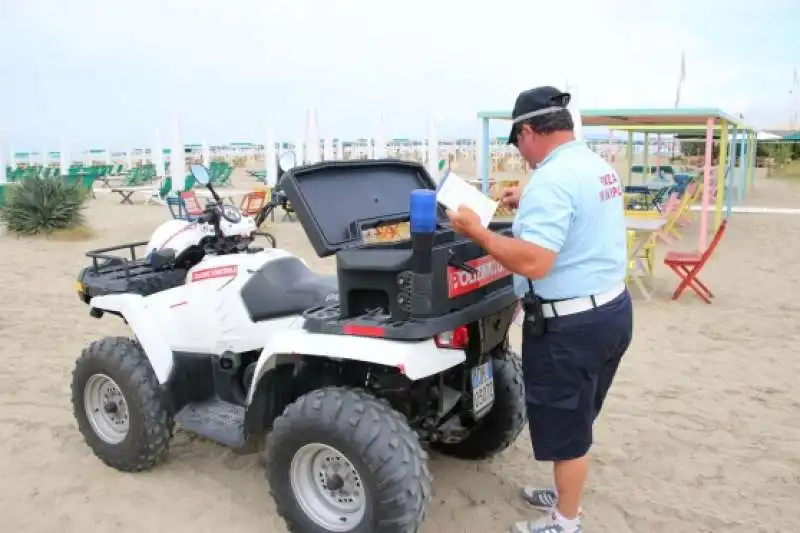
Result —
M 632 330 L 627 290 L 591 311 L 547 320 L 539 337 L 523 328 L 522 369 L 537 460 L 566 461 L 589 451 L 592 425 Z

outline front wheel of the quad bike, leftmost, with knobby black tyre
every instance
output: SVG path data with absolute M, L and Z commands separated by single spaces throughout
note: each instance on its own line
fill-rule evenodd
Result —
M 117 470 L 147 470 L 167 453 L 173 420 L 131 339 L 106 337 L 83 350 L 72 372 L 72 409 L 86 444 Z

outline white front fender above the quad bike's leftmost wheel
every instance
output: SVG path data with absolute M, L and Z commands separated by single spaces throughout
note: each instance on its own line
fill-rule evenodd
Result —
M 89 308 L 122 316 L 142 346 L 158 382 L 164 384 L 169 380 L 174 364 L 172 350 L 166 339 L 162 338 L 157 317 L 148 312 L 147 303 L 142 296 L 138 294 L 95 296 L 89 301 Z

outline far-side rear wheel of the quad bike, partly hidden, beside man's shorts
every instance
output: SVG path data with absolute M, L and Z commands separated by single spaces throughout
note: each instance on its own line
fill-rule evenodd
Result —
M 432 446 L 459 459 L 488 459 L 506 450 L 525 427 L 525 386 L 522 360 L 503 351 L 492 362 L 495 400 L 491 410 L 461 442 L 435 442 Z

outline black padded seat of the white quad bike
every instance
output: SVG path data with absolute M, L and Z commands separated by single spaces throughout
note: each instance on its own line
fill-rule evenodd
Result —
M 339 285 L 336 276 L 319 276 L 296 257 L 284 257 L 258 269 L 241 294 L 250 320 L 259 322 L 336 304 Z

